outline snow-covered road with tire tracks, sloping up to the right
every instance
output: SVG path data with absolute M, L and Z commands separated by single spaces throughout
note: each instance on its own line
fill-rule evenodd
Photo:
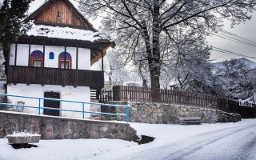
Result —
M 121 159 L 256 159 L 256 124 L 196 134 Z

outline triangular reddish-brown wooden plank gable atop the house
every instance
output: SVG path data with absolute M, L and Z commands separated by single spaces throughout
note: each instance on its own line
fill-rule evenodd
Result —
M 49 0 L 26 19 L 34 23 L 78 27 L 96 31 L 68 0 Z

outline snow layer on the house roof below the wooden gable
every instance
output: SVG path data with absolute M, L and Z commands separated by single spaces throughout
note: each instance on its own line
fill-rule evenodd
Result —
M 30 30 L 27 30 L 26 35 L 42 36 L 47 38 L 74 39 L 90 42 L 98 40 L 107 40 L 112 42 L 110 36 L 101 31 L 94 32 L 91 30 L 80 30 L 70 27 L 35 25 L 34 23 L 32 23 Z

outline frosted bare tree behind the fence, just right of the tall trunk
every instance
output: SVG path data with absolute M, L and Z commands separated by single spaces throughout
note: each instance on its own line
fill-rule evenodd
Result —
M 187 30 L 186 34 L 179 34 L 174 41 L 174 56 L 170 65 L 162 67 L 164 74 L 160 82 L 164 87 L 172 82 L 179 90 L 205 92 L 205 86 L 212 86 L 210 47 L 206 45 L 206 38 L 194 30 Z

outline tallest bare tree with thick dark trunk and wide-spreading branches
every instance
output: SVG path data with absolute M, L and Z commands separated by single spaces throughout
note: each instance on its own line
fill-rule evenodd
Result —
M 104 30 L 118 37 L 127 57 L 133 58 L 134 50 L 143 46 L 151 86 L 159 88 L 161 67 L 179 28 L 206 34 L 218 30 L 223 18 L 232 25 L 245 22 L 255 5 L 256 0 L 81 0 L 80 10 L 87 17 L 105 14 Z

